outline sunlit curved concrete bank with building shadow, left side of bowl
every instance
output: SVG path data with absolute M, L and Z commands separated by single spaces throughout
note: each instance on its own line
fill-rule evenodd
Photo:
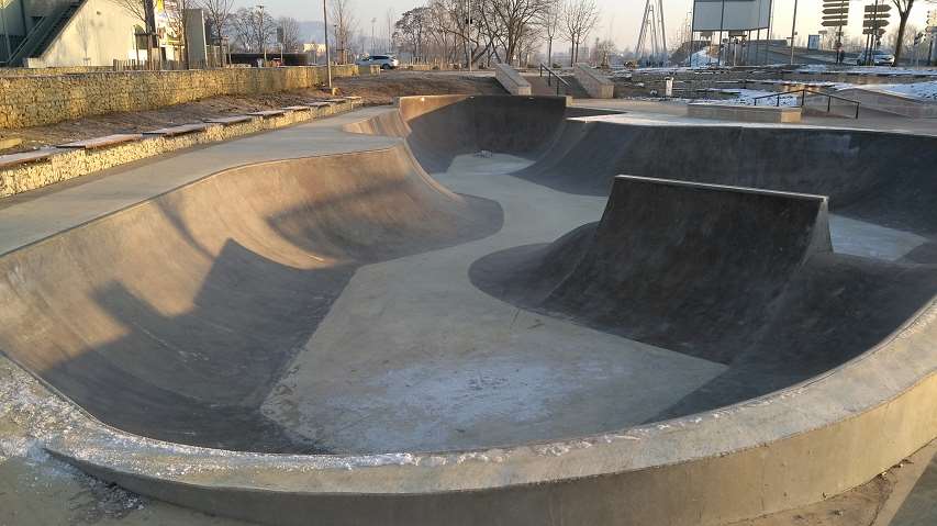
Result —
M 402 146 L 235 168 L 0 257 L 0 348 L 125 432 L 316 452 L 259 410 L 355 270 L 500 222 Z

